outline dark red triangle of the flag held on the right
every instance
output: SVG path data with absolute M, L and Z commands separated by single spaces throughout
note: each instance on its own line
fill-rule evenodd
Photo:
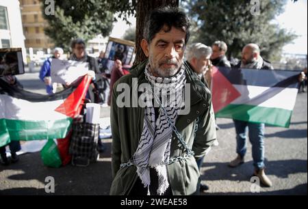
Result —
M 232 83 L 218 70 L 213 67 L 211 80 L 211 101 L 213 103 L 214 113 L 227 107 L 233 100 L 241 96 Z

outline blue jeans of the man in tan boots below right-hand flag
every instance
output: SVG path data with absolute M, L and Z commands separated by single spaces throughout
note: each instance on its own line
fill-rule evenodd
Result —
M 264 165 L 264 124 L 233 120 L 236 131 L 236 152 L 244 157 L 246 154 L 246 133 L 253 146 L 253 165 L 256 169 L 263 169 Z

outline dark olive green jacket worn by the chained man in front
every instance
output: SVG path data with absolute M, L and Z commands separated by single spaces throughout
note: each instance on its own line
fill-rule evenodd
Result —
M 144 108 L 142 107 L 118 107 L 117 97 L 123 92 L 116 92 L 120 83 L 126 83 L 130 87 L 130 94 L 137 91 L 137 85 L 133 85 L 133 79 L 138 79 L 138 86 L 147 83 L 144 69 L 147 60 L 133 67 L 131 74 L 123 76 L 115 84 L 112 92 L 111 126 L 112 126 L 112 187 L 110 195 L 128 195 L 138 174 L 135 166 L 120 168 L 121 163 L 127 163 L 138 147 L 138 141 L 142 134 L 144 121 Z M 185 139 L 188 147 L 194 151 L 191 156 L 182 161 L 177 161 L 167 166 L 168 178 L 173 195 L 198 194 L 200 173 L 196 159 L 205 155 L 205 151 L 216 139 L 214 111 L 211 104 L 211 93 L 198 77 L 185 63 L 186 83 L 190 83 L 190 112 L 188 115 L 179 115 L 175 126 Z M 136 82 L 135 82 L 136 83 Z M 123 90 L 123 89 L 122 89 Z M 141 93 L 138 92 L 138 96 Z M 136 95 L 136 94 L 135 94 Z M 122 94 L 123 96 L 123 94 Z M 119 97 L 120 98 L 120 97 Z M 128 101 L 132 105 L 131 96 Z M 134 98 L 136 100 L 136 98 Z M 127 100 L 125 100 L 127 101 Z M 198 118 L 198 129 L 196 119 Z M 170 158 L 185 154 L 183 146 L 172 133 Z

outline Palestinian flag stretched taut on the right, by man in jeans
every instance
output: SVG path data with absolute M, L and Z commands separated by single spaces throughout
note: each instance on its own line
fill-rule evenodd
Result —
M 214 68 L 211 89 L 216 117 L 289 127 L 299 73 Z

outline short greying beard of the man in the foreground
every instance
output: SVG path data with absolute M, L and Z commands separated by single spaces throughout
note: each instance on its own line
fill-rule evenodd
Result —
M 164 64 L 173 64 L 170 68 L 161 68 Z M 159 61 L 158 67 L 154 67 L 151 70 L 155 72 L 159 77 L 172 77 L 179 71 L 180 65 L 176 59 L 165 59 L 163 61 Z

